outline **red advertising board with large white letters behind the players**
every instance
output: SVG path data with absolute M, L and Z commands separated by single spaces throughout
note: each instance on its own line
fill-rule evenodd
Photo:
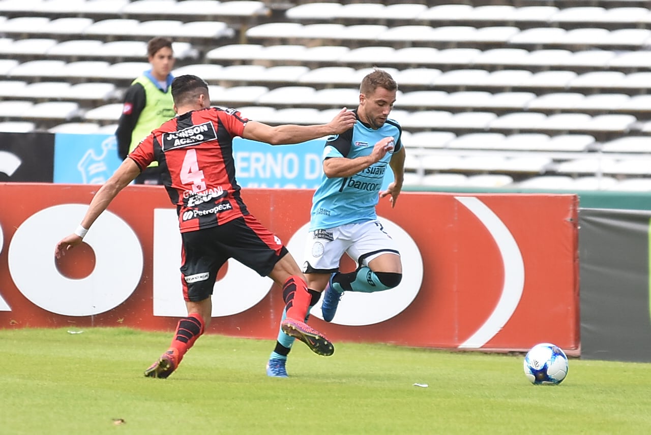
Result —
M 130 326 L 171 330 L 184 315 L 176 213 L 161 187 L 129 186 L 60 261 L 54 245 L 98 186 L 0 184 L 0 327 Z M 245 189 L 263 224 L 302 262 L 312 191 Z M 579 349 L 574 194 L 404 192 L 378 206 L 398 241 L 395 289 L 346 293 L 333 341 L 447 349 Z M 344 269 L 354 267 L 350 259 Z M 215 283 L 209 332 L 274 339 L 283 308 L 269 278 L 229 261 Z M 316 307 L 318 308 L 318 307 Z

